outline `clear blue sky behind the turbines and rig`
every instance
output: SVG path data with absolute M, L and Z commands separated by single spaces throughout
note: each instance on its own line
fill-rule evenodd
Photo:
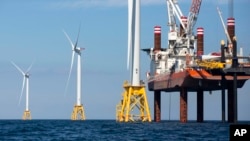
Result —
M 179 1 L 186 15 L 190 1 Z M 234 2 L 236 36 L 244 55 L 250 54 L 250 2 Z M 226 22 L 226 0 L 203 0 L 196 27 L 205 30 L 205 54 L 219 50 L 226 39 L 216 6 Z M 76 66 L 68 93 L 64 89 L 70 68 L 71 48 L 64 29 L 76 40 L 82 54 L 82 103 L 87 119 L 115 119 L 121 100 L 122 84 L 129 79 L 127 57 L 127 0 L 2 0 L 0 2 L 0 119 L 21 119 L 22 75 L 10 63 L 22 69 L 35 63 L 30 71 L 30 110 L 33 119 L 70 119 L 76 102 Z M 165 0 L 141 0 L 141 48 L 152 47 L 153 27 L 162 26 L 162 46 L 167 43 L 167 7 Z M 149 57 L 141 52 L 141 79 L 149 70 Z M 238 90 L 238 119 L 250 120 L 250 82 Z M 148 92 L 153 117 L 153 93 Z M 162 93 L 162 119 L 169 117 L 169 93 Z M 220 92 L 205 92 L 204 119 L 221 119 Z M 196 119 L 196 94 L 189 93 L 188 119 Z M 179 119 L 179 93 L 171 93 L 171 119 Z

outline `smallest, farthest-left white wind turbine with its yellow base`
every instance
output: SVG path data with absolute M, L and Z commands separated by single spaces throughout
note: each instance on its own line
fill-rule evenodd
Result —
M 23 95 L 23 90 L 24 90 L 24 86 L 26 85 L 26 108 L 23 114 L 23 119 L 31 119 L 31 114 L 30 114 L 30 110 L 29 110 L 29 77 L 30 77 L 30 69 L 33 65 L 33 63 L 30 65 L 30 67 L 27 69 L 26 72 L 24 72 L 22 69 L 20 69 L 20 67 L 18 67 L 14 62 L 11 62 L 16 68 L 17 70 L 23 75 L 23 85 L 22 85 L 22 90 L 21 90 L 21 95 L 19 98 L 19 104 L 21 102 L 22 99 L 22 95 Z

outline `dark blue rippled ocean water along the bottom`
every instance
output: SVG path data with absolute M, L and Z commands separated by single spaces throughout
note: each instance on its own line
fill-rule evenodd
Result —
M 119 123 L 115 120 L 0 120 L 0 140 L 228 141 L 229 125 L 220 121 Z

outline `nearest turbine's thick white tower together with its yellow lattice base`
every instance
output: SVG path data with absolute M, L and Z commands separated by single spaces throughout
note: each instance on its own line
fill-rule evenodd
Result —
M 122 100 L 116 107 L 116 121 L 151 122 L 145 85 L 140 81 L 140 0 L 128 0 L 127 63 L 127 67 L 130 68 L 131 82 L 125 81 L 123 84 Z

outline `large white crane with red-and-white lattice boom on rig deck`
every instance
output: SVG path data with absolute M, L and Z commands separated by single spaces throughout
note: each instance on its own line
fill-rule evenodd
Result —
M 193 27 L 197 21 L 202 0 L 192 0 L 188 17 L 182 14 L 178 0 L 166 1 L 168 6 L 168 25 L 170 27 L 168 35 L 169 48 L 173 49 L 174 54 L 181 55 L 181 53 L 184 53 L 183 55 L 185 55 L 185 52 L 192 54 L 195 46 Z M 177 22 L 180 25 L 179 31 Z

